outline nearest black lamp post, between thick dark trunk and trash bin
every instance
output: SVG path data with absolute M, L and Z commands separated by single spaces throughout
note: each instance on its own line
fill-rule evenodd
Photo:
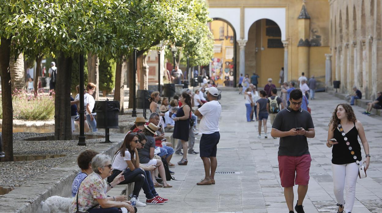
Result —
M 86 146 L 84 127 L 85 127 L 85 107 L 84 107 L 84 55 L 79 55 L 79 136 L 78 146 Z

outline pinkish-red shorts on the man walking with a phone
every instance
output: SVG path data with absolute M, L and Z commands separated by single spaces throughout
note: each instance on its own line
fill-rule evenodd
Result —
M 291 187 L 296 185 L 306 186 L 309 183 L 309 168 L 312 161 L 311 156 L 302 155 L 278 156 L 278 171 L 282 187 Z

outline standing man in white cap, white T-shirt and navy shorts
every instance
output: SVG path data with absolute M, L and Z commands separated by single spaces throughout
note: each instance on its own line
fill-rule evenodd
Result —
M 215 184 L 215 171 L 217 167 L 216 151 L 220 140 L 219 118 L 222 106 L 217 101 L 219 91 L 214 86 L 206 88 L 209 102 L 196 110 L 195 115 L 200 117 L 199 132 L 202 133 L 199 149 L 203 160 L 205 176 L 197 185 Z

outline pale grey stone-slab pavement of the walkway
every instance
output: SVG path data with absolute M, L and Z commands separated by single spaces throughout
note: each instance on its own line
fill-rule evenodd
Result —
M 202 160 L 189 155 L 186 166 L 170 168 L 174 177 L 184 181 L 170 181 L 173 188 L 156 188 L 159 195 L 170 199 L 165 205 L 139 207 L 139 212 L 288 212 L 280 186 L 277 150 L 279 139 L 257 138 L 257 122 L 246 122 L 243 96 L 236 91 L 223 91 L 220 143 L 217 171 L 238 171 L 240 174 L 217 174 L 215 185 L 197 186 L 204 177 Z M 338 103 L 343 100 L 327 93 L 316 93 L 310 101 L 316 137 L 308 139 L 312 156 L 309 190 L 304 200 L 306 213 L 337 212 L 333 194 L 331 150 L 325 146 L 327 125 Z M 354 107 L 357 119 L 365 128 L 370 145 L 371 164 L 367 178 L 358 179 L 354 213 L 382 212 L 382 148 L 379 137 L 381 118 L 361 114 L 364 109 Z M 200 136 L 197 136 L 199 141 Z M 195 144 L 199 150 L 199 143 Z M 362 147 L 362 146 L 361 146 Z M 363 151 L 362 151 L 363 152 Z M 365 155 L 364 152 L 362 154 Z M 180 160 L 174 156 L 172 162 Z M 140 200 L 144 201 L 141 192 Z M 295 202 L 297 186 L 295 186 Z

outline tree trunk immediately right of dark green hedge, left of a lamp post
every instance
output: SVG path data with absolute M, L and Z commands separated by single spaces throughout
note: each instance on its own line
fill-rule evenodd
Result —
M 120 56 L 120 60 L 117 60 L 117 66 L 115 68 L 115 89 L 114 89 L 114 101 L 120 102 L 120 113 L 123 113 L 123 101 L 125 101 L 125 72 L 126 72 L 126 58 Z

